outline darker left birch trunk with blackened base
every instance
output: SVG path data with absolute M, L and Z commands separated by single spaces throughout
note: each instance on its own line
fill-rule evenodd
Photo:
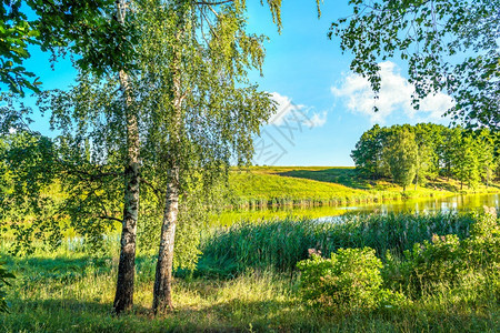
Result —
M 124 23 L 126 1 L 117 1 L 117 20 Z M 129 77 L 119 72 L 120 89 L 124 100 L 127 118 L 127 164 L 124 168 L 123 222 L 120 242 L 120 262 L 118 264 L 117 292 L 113 307 L 117 314 L 130 310 L 133 305 L 133 280 L 136 275 L 136 235 L 139 210 L 139 123 L 131 112 L 132 97 Z

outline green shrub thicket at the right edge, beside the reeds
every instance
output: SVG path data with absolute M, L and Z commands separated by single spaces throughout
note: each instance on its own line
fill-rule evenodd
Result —
M 383 270 L 386 284 L 418 297 L 458 286 L 470 280 L 470 275 L 490 276 L 497 281 L 500 228 L 494 210 L 487 209 L 484 214 L 477 215 L 470 233 L 464 240 L 454 234 L 434 234 L 431 242 L 416 243 L 411 251 L 404 251 L 402 261 L 388 252 Z

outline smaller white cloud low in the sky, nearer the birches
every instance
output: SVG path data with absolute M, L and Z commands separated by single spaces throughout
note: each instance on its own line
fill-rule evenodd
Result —
M 311 107 L 294 104 L 289 97 L 278 92 L 272 92 L 271 99 L 277 102 L 277 111 L 269 119 L 269 124 L 280 127 L 287 122 L 301 122 L 309 128 L 318 128 L 327 122 L 327 111 L 318 113 Z

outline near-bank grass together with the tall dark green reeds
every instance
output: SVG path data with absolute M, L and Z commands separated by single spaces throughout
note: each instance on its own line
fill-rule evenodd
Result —
M 17 279 L 9 289 L 10 314 L 0 332 L 498 332 L 498 295 L 491 287 L 443 289 L 404 307 L 349 312 L 308 306 L 291 270 L 308 246 L 326 252 L 370 245 L 400 252 L 432 233 L 466 238 L 472 215 L 344 216 L 344 224 L 307 220 L 269 221 L 218 230 L 204 239 L 199 272 L 178 275 L 174 312 L 151 312 L 154 258 L 138 258 L 136 305 L 111 314 L 118 253 L 102 255 L 64 245 L 57 252 L 12 258 L 0 252 Z M 497 220 L 498 221 L 498 220 Z M 220 274 L 224 265 L 237 269 Z M 203 268 L 204 265 L 204 268 Z M 212 271 L 208 271 L 211 266 Z M 219 269 L 214 274 L 213 268 Z M 226 272 L 228 273 L 228 272 Z M 498 285 L 498 282 L 497 282 Z

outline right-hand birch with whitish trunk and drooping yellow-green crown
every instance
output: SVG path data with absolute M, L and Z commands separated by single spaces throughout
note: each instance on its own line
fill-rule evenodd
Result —
M 153 290 L 153 310 L 162 313 L 173 307 L 179 201 L 192 194 L 189 182 L 209 191 L 227 176 L 231 158 L 237 164 L 250 162 L 252 137 L 273 104 L 247 80 L 249 69 L 260 70 L 264 37 L 246 31 L 243 2 L 144 2 L 154 10 L 142 11 L 149 38 L 137 91 L 151 115 L 146 153 L 154 157 L 166 189 Z M 279 11 L 274 20 L 279 26 Z

